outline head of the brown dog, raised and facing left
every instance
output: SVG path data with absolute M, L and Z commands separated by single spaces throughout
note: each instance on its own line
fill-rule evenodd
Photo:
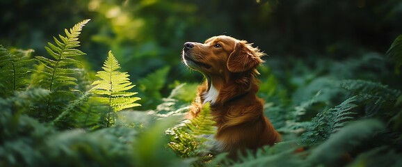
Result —
M 245 40 L 220 35 L 209 38 L 203 44 L 184 43 L 182 58 L 184 63 L 206 75 L 257 72 L 264 53 L 252 47 Z

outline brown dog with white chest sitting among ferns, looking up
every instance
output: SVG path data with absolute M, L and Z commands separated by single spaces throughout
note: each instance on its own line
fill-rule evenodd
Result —
M 261 56 L 264 53 L 245 40 L 225 35 L 209 38 L 204 44 L 184 43 L 184 63 L 207 79 L 198 87 L 198 100 L 189 116 L 194 118 L 202 105 L 210 102 L 218 147 L 230 152 L 230 157 L 236 157 L 238 150 L 255 150 L 280 141 L 280 134 L 263 114 L 264 101 L 255 95 Z

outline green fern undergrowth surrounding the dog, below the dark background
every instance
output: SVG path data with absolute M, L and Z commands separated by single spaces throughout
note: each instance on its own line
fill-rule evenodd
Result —
M 163 98 L 162 67 L 136 97 L 111 51 L 86 70 L 76 57 L 89 21 L 49 42 L 49 56 L 0 46 L 0 166 L 402 166 L 401 36 L 384 55 L 267 61 L 259 96 L 284 141 L 234 161 L 214 148 L 209 104 L 184 119 L 198 84 L 177 81 Z

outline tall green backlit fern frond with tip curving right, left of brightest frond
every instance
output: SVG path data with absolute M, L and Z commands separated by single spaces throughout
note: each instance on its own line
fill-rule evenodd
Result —
M 83 26 L 85 26 L 90 19 L 83 20 L 75 24 L 72 29 L 65 29 L 65 35 L 59 35 L 59 39 L 54 37 L 56 45 L 48 42 L 48 47 L 45 47 L 47 53 L 51 58 L 43 56 L 36 56 L 35 58 L 40 62 L 37 69 L 40 73 L 38 77 L 38 84 L 41 88 L 45 88 L 51 92 L 49 98 L 41 108 L 45 108 L 45 114 L 41 113 L 45 120 L 56 118 L 60 114 L 60 110 L 70 100 L 74 100 L 74 86 L 77 86 L 77 79 L 72 77 L 75 69 L 72 68 L 80 65 L 80 62 L 73 59 L 74 56 L 83 56 L 85 53 L 79 49 L 78 36 L 81 33 Z M 63 99 L 60 99 L 63 97 Z

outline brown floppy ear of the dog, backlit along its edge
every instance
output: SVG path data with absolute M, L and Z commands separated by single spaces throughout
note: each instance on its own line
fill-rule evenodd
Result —
M 251 70 L 263 61 L 264 54 L 259 49 L 251 47 L 246 41 L 236 42 L 234 50 L 227 59 L 227 69 L 230 72 L 245 72 Z

